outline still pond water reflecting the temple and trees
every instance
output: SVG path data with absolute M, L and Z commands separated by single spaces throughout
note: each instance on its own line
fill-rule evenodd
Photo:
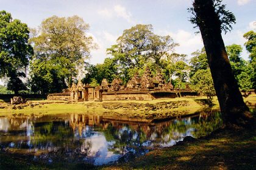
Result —
M 0 117 L 0 151 L 27 154 L 33 161 L 104 165 L 139 157 L 190 135 L 201 137 L 221 126 L 219 112 L 186 118 L 148 120 L 97 114 Z

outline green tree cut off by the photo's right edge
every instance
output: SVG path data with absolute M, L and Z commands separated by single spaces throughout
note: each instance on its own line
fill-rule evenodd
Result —
M 246 46 L 246 50 L 250 52 L 249 66 L 252 68 L 252 88 L 256 89 L 256 33 L 254 31 L 249 31 L 244 34 L 244 38 L 247 39 L 247 42 L 244 44 Z

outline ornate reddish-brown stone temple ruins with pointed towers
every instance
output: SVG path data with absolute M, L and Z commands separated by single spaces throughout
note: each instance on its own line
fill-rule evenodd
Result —
M 190 87 L 174 89 L 171 83 L 165 83 L 162 73 L 153 77 L 149 67 L 142 77 L 135 74 L 124 86 L 123 81 L 115 78 L 112 83 L 102 80 L 101 86 L 91 87 L 79 81 L 66 92 L 49 94 L 49 100 L 74 101 L 106 101 L 106 100 L 154 100 L 156 98 L 175 98 L 181 96 L 194 96 L 196 92 Z

